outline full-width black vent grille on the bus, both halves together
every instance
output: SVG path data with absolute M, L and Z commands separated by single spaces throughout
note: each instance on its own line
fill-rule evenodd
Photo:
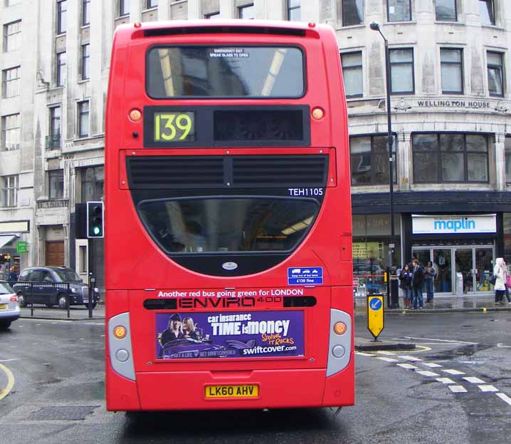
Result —
M 132 190 L 326 187 L 327 155 L 127 158 Z

